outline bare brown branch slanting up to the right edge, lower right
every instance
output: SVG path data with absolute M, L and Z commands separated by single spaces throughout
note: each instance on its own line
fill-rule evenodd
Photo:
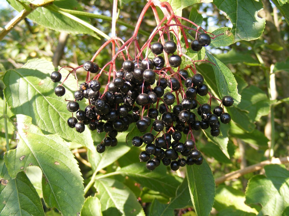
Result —
M 272 160 L 265 160 L 262 161 L 258 164 L 254 164 L 252 166 L 247 166 L 244 169 L 236 170 L 234 172 L 228 173 L 220 178 L 215 179 L 216 185 L 221 184 L 225 181 L 231 180 L 231 179 L 236 179 L 239 178 L 247 173 L 253 173 L 257 170 L 262 169 L 264 166 L 268 164 L 286 164 L 289 163 L 289 156 L 284 157 L 284 158 L 273 158 Z

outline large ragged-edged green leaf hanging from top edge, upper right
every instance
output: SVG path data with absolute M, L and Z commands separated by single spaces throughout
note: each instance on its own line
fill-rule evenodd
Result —
M 234 43 L 240 40 L 251 41 L 258 39 L 265 28 L 265 18 L 259 18 L 257 13 L 263 9 L 260 1 L 255 0 L 214 0 L 219 10 L 227 14 L 233 27 Z

